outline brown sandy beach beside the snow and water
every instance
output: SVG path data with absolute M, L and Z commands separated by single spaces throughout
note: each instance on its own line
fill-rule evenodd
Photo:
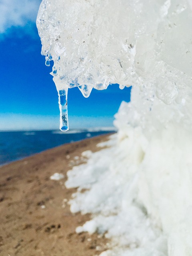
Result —
M 72 214 L 63 200 L 76 192 L 64 186 L 74 157 L 98 150 L 96 144 L 107 139 L 65 144 L 0 167 L 0 256 L 93 256 L 106 250 L 104 237 L 75 233 L 90 216 Z M 50 180 L 55 172 L 65 178 Z

